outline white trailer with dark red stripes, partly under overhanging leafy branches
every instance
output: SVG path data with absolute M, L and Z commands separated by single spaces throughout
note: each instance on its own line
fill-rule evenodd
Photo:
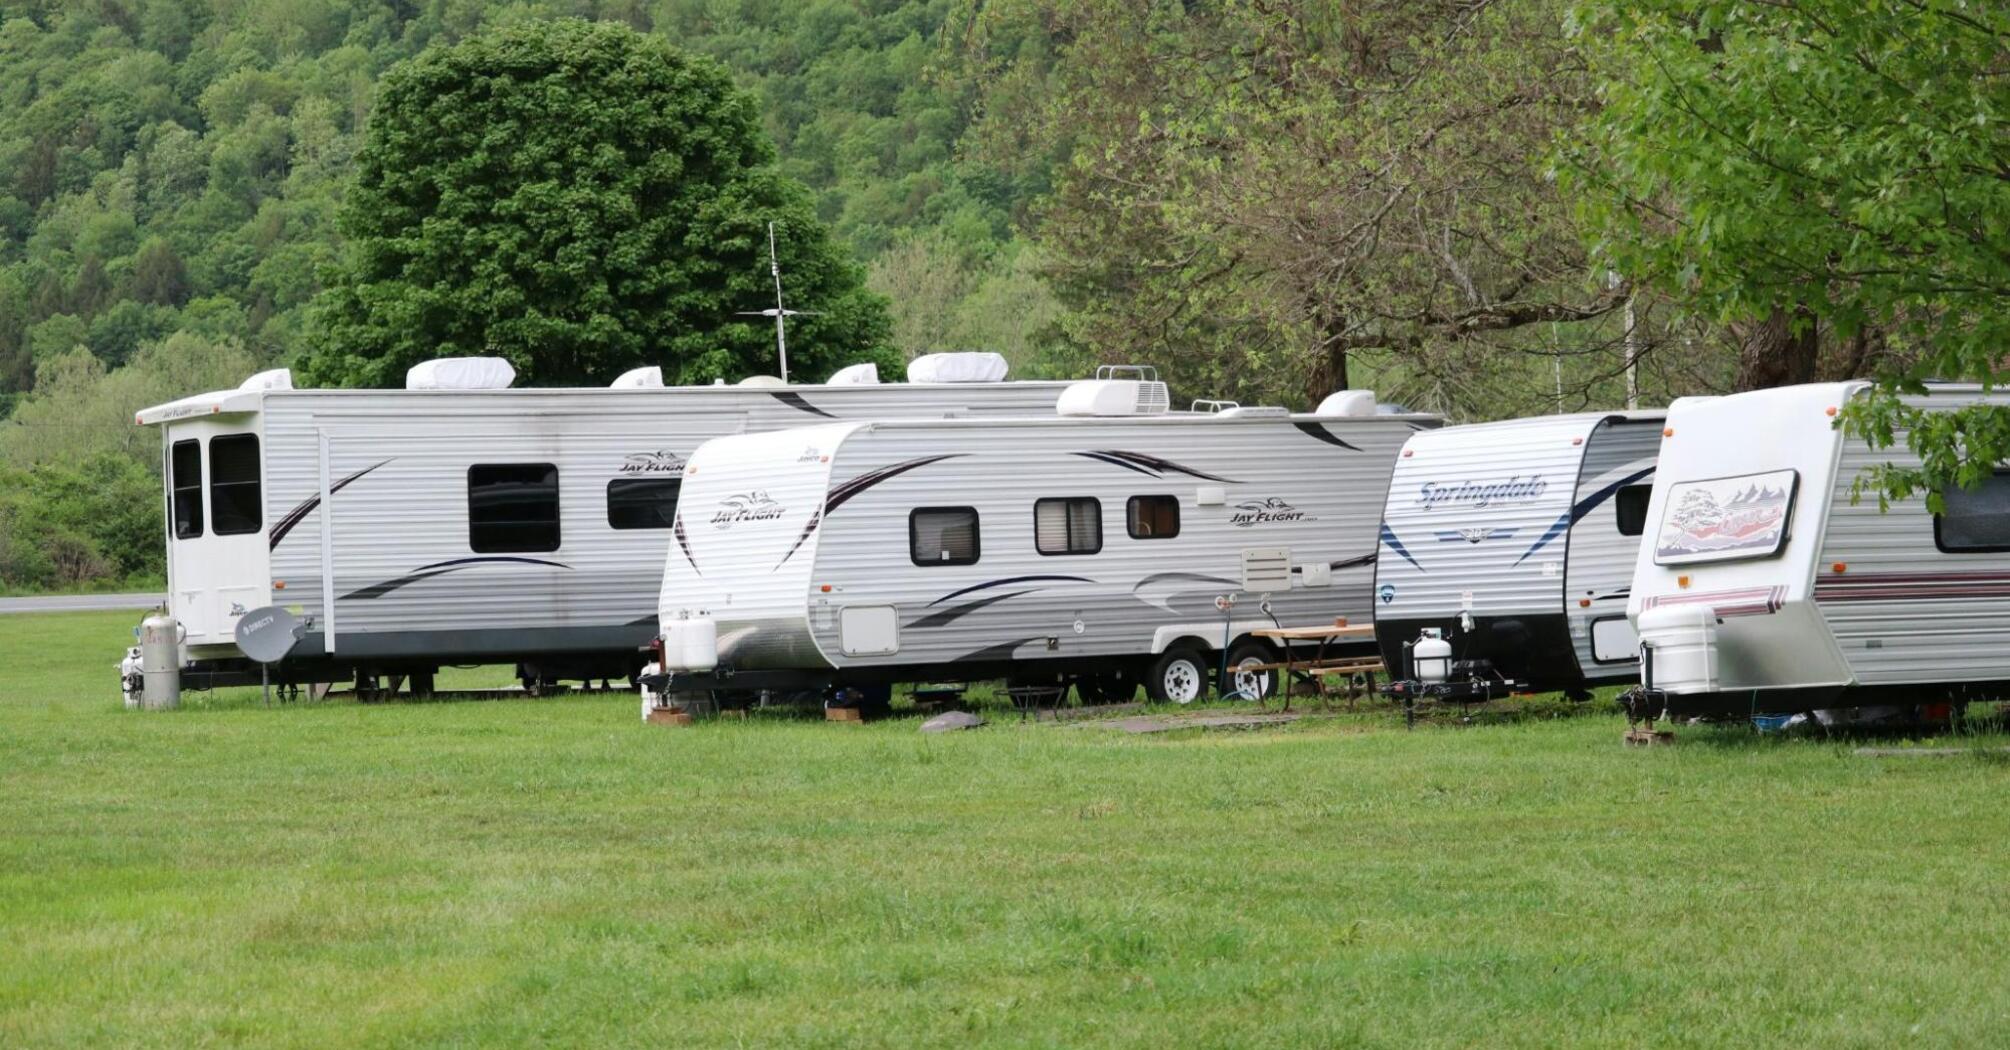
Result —
M 1879 511 L 1877 463 L 1835 426 L 1865 388 L 1831 382 L 1684 398 L 1668 410 L 1628 614 L 1636 714 L 1783 714 L 2000 698 L 2010 690 L 2010 471 Z M 2010 394 L 1936 384 L 1928 410 Z

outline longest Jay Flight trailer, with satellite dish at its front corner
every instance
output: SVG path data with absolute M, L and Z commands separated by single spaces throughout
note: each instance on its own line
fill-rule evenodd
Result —
M 945 360 L 947 358 L 947 360 Z M 911 376 L 983 356 L 919 360 Z M 985 368 L 977 368 L 985 366 Z M 862 366 L 846 370 L 858 376 Z M 517 664 L 529 688 L 623 678 L 655 638 L 657 577 L 685 457 L 706 439 L 820 418 L 1051 412 L 1065 382 L 511 388 L 500 358 L 412 370 L 404 390 L 243 388 L 139 412 L 161 428 L 169 614 L 191 688 L 257 682 L 233 630 L 304 618 L 275 682 Z

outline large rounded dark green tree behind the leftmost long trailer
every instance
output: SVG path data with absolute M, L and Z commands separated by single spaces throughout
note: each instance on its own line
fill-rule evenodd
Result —
M 316 380 L 394 384 L 500 354 L 531 384 L 661 364 L 683 382 L 774 368 L 766 227 L 792 366 L 884 356 L 886 304 L 776 171 L 724 68 L 611 22 L 527 22 L 390 70 L 342 207 Z

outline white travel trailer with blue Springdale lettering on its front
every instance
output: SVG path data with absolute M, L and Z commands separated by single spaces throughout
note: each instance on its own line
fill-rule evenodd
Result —
M 1626 620 L 1662 412 L 1423 430 L 1389 483 L 1375 640 L 1403 698 L 1632 680 Z

